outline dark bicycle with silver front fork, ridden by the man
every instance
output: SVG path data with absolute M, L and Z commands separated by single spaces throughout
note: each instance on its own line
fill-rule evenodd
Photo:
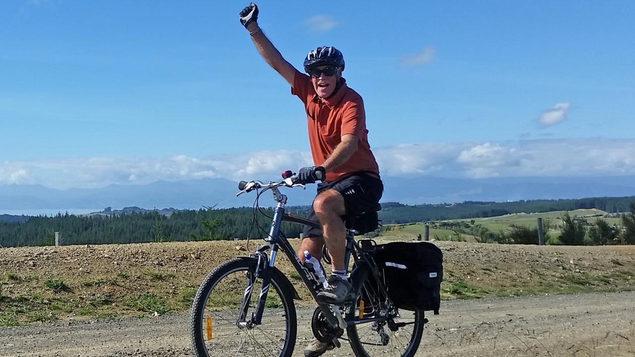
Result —
M 249 257 L 238 257 L 214 269 L 201 283 L 192 304 L 190 337 L 199 357 L 217 356 L 291 356 L 297 337 L 294 300 L 300 299 L 290 280 L 274 266 L 279 250 L 288 257 L 314 300 L 322 285 L 310 268 L 300 263 L 295 250 L 280 231 L 281 222 L 318 227 L 318 222 L 284 212 L 287 196 L 280 187 L 304 187 L 296 184 L 290 171 L 281 182 L 239 183 L 240 194 L 270 190 L 277 202 L 269 234 L 264 245 Z M 262 190 L 262 191 L 259 191 Z M 380 207 L 378 207 L 380 209 Z M 406 311 L 394 306 L 387 295 L 380 269 L 373 260 L 374 241 L 354 239 L 352 219 L 347 219 L 345 266 L 349 271 L 352 293 L 342 306 L 317 303 L 311 328 L 322 342 L 338 339 L 347 332 L 356 356 L 379 355 L 411 357 L 416 353 L 427 319 L 424 311 Z M 269 254 L 267 254 L 269 252 Z M 328 256 L 327 254 L 324 255 Z M 273 286 L 273 289 L 271 289 Z M 260 287 L 260 293 L 253 293 Z M 317 300 L 316 300 L 317 301 Z

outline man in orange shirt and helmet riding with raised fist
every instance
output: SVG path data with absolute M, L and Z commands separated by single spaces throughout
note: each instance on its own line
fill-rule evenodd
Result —
M 344 56 L 331 46 L 309 51 L 300 73 L 284 60 L 257 23 L 258 7 L 251 3 L 240 13 L 241 24 L 250 32 L 258 52 L 290 85 L 291 94 L 304 103 L 309 144 L 315 166 L 301 168 L 300 184 L 318 184 L 309 219 L 318 220 L 322 229 L 306 227 L 298 257 L 304 262 L 304 250 L 320 259 L 323 246 L 331 257 L 328 286 L 318 294 L 326 304 L 342 304 L 351 284 L 344 266 L 346 227 L 344 218 L 357 217 L 373 210 L 382 196 L 384 185 L 379 177 L 375 156 L 368 144 L 366 116 L 361 96 L 342 77 Z M 323 354 L 335 345 L 314 340 L 305 356 Z

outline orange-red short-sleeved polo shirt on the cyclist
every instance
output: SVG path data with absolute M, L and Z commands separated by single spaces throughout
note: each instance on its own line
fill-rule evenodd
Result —
M 335 150 L 342 135 L 353 134 L 359 138 L 358 149 L 351 158 L 334 170 L 326 173 L 326 182 L 333 182 L 355 172 L 371 172 L 379 175 L 379 167 L 368 144 L 366 114 L 361 96 L 346 85 L 328 99 L 320 99 L 313 88 L 311 77 L 295 73 L 291 94 L 297 95 L 307 112 L 309 144 L 316 166 L 321 166 Z

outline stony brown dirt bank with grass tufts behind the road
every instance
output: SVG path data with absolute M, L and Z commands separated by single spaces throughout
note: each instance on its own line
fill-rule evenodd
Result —
M 184 311 L 206 274 L 261 242 L 3 248 L 0 325 Z M 635 288 L 635 246 L 434 243 L 445 257 L 444 299 Z M 311 304 L 290 263 L 278 257 L 276 266 Z

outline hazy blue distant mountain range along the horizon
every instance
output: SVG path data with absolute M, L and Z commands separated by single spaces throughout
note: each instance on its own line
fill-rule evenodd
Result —
M 457 203 L 462 201 L 519 201 L 601 196 L 634 196 L 635 177 L 515 177 L 497 179 L 445 179 L 439 177 L 386 177 L 382 201 L 408 205 Z M 286 189 L 290 205 L 309 205 L 315 185 L 307 189 Z M 0 213 L 3 210 L 127 206 L 142 208 L 227 208 L 251 206 L 255 192 L 236 197 L 237 182 L 225 179 L 154 182 L 147 185 L 109 185 L 99 189 L 50 189 L 41 185 L 0 186 Z M 269 192 L 261 206 L 274 201 Z

